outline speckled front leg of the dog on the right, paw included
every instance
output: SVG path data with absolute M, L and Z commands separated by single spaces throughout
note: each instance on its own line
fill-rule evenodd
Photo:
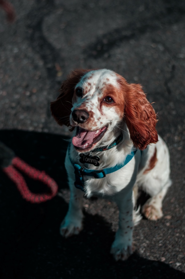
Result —
M 112 243 L 111 254 L 115 260 L 126 260 L 132 253 L 133 203 L 132 190 L 119 194 L 115 202 L 119 208 L 119 228 Z

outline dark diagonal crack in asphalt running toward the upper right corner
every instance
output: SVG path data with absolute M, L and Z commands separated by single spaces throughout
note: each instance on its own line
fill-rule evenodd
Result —
M 167 5 L 169 5 L 168 2 Z M 130 25 L 124 28 L 116 28 L 97 38 L 94 44 L 87 46 L 85 55 L 86 57 L 100 58 L 119 43 L 130 40 L 137 35 L 142 35 L 147 31 L 160 29 L 165 24 L 174 24 L 180 21 L 184 15 L 185 9 L 182 7 L 177 7 L 177 5 L 168 6 L 165 12 L 162 11 L 157 16 L 141 18 L 141 22 L 137 23 L 137 26 L 135 26 L 134 21 L 134 23 L 131 22 Z

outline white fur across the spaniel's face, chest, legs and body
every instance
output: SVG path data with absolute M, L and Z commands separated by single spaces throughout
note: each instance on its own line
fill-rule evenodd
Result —
M 122 141 L 110 150 L 102 152 L 93 152 L 93 156 L 97 155 L 100 157 L 100 166 L 96 167 L 92 164 L 81 164 L 79 162 L 79 152 L 76 151 L 73 144 L 70 145 L 70 157 L 74 163 L 80 164 L 85 168 L 94 170 L 100 170 L 102 168 L 108 168 L 115 166 L 122 162 L 131 150 L 133 150 L 133 144 L 130 140 L 130 134 L 126 123 L 116 113 L 114 107 L 102 108 L 102 115 L 99 111 L 98 97 L 103 87 L 102 83 L 109 78 L 110 84 L 118 87 L 116 83 L 116 74 L 110 70 L 98 70 L 92 71 L 94 75 L 91 79 L 91 90 L 83 98 L 78 97 L 76 101 L 73 100 L 73 108 L 79 109 L 81 106 L 85 106 L 86 111 L 93 109 L 95 124 L 92 124 L 90 131 L 95 131 L 108 124 L 108 129 L 103 138 L 95 144 L 94 148 L 111 144 L 116 137 L 122 133 Z M 91 76 L 92 72 L 87 73 L 79 83 L 84 87 L 87 85 L 87 77 Z M 97 89 L 99 88 L 99 89 Z M 87 101 L 90 98 L 90 102 Z M 100 120 L 98 118 L 101 117 Z M 101 121 L 101 125 L 100 125 Z M 72 115 L 70 116 L 70 123 L 72 126 L 77 124 L 73 121 Z M 89 124 L 88 124 L 89 125 Z M 83 124 L 85 129 L 85 124 Z M 73 132 L 75 136 L 76 129 Z M 154 154 L 155 148 L 157 150 L 157 163 L 155 166 L 143 174 L 149 166 L 151 157 Z M 69 154 L 66 154 L 65 167 L 68 174 L 69 187 L 71 190 L 71 197 L 69 203 L 69 210 L 65 219 L 63 220 L 60 228 L 60 232 L 63 236 L 68 237 L 73 234 L 78 234 L 82 229 L 83 212 L 82 212 L 82 198 L 83 192 L 74 186 L 75 175 L 74 168 L 69 160 Z M 142 152 L 137 150 L 135 156 L 130 160 L 126 166 L 117 170 L 116 172 L 107 174 L 106 177 L 101 179 L 95 179 L 94 177 L 84 176 L 85 180 L 85 196 L 91 197 L 93 195 L 108 198 L 113 200 L 118 205 L 120 210 L 119 213 L 119 228 L 116 232 L 115 240 L 111 247 L 111 253 L 114 255 L 116 260 L 125 260 L 132 254 L 132 232 L 134 222 L 138 223 L 141 219 L 139 212 L 133 211 L 135 201 L 137 198 L 137 188 L 142 187 L 151 198 L 143 206 L 143 214 L 151 220 L 157 220 L 162 216 L 162 200 L 167 192 L 167 188 L 171 184 L 169 178 L 170 175 L 170 163 L 169 163 L 169 152 L 165 142 L 159 137 L 159 141 L 156 144 L 148 145 L 147 148 Z M 134 189 L 134 191 L 133 191 Z

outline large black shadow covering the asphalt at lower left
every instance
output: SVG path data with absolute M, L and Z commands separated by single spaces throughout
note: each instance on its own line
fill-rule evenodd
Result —
M 113 220 L 106 222 L 98 214 L 85 212 L 84 230 L 79 235 L 69 239 L 59 235 L 68 208 L 65 199 L 69 197 L 65 137 L 13 130 L 0 131 L 0 140 L 17 156 L 54 178 L 64 195 L 64 199 L 60 194 L 48 202 L 30 204 L 0 172 L 1 278 L 184 278 L 182 272 L 142 258 L 137 251 L 127 261 L 115 262 L 110 255 Z M 31 190 L 44 190 L 40 183 L 26 181 Z

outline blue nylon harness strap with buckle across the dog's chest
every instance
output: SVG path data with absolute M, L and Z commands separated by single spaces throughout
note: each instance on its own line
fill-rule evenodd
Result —
M 69 144 L 69 146 L 70 146 L 70 144 Z M 131 151 L 131 153 L 126 156 L 125 160 L 122 163 L 117 164 L 116 166 L 113 166 L 111 168 L 104 168 L 102 170 L 91 170 L 91 169 L 83 168 L 79 164 L 74 164 L 72 162 L 70 154 L 69 154 L 69 146 L 68 146 L 69 159 L 75 169 L 75 187 L 82 191 L 84 191 L 83 175 L 93 176 L 94 178 L 103 178 L 106 176 L 106 174 L 115 172 L 116 170 L 123 168 L 126 164 L 128 164 L 128 162 L 130 162 L 130 160 L 133 158 L 133 156 L 135 155 L 135 153 L 137 151 L 137 149 L 134 151 Z

